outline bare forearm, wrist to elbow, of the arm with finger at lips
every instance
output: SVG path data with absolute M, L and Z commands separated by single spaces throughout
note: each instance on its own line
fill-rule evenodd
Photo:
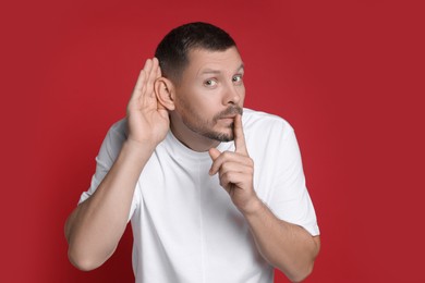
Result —
M 319 251 L 319 237 L 278 219 L 259 199 L 256 208 L 244 214 L 262 256 L 291 281 L 302 281 L 313 270 Z

